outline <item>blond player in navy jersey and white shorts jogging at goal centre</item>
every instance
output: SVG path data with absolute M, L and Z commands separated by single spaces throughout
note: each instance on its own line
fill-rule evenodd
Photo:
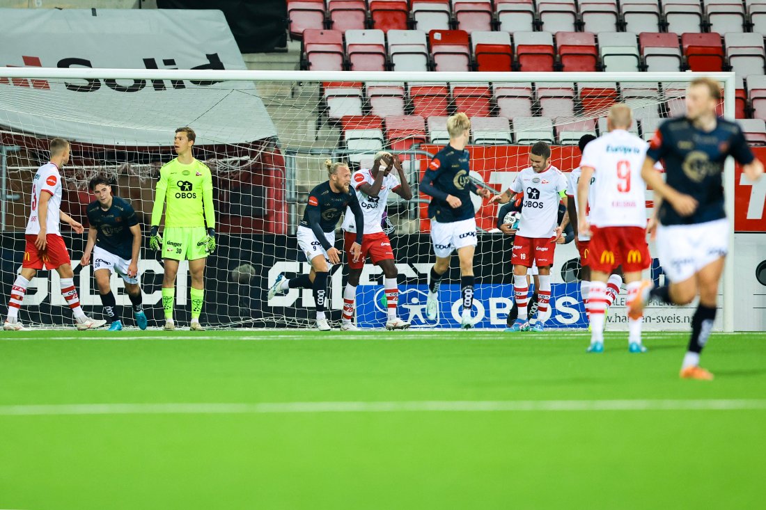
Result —
M 470 137 L 471 121 L 465 113 L 456 113 L 447 119 L 450 143 L 434 155 L 421 181 L 421 191 L 433 199 L 428 204 L 431 219 L 431 241 L 436 263 L 431 267 L 426 300 L 426 316 L 439 315 L 439 286 L 444 273 L 450 268 L 450 257 L 457 250 L 460 259 L 460 288 L 463 295 L 463 314 L 460 325 L 473 328 L 473 251 L 476 249 L 476 211 L 470 194 L 488 198 L 491 192 L 478 188 L 471 181 L 469 154 L 466 145 Z

